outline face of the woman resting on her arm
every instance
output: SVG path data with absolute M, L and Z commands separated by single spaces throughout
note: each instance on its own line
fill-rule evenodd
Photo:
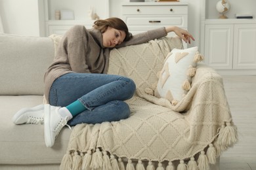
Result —
M 103 46 L 105 48 L 113 48 L 117 44 L 121 44 L 125 39 L 125 31 L 108 27 L 104 33 L 102 33 Z

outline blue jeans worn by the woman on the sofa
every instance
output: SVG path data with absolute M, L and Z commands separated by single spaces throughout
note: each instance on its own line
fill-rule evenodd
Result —
M 49 93 L 50 105 L 66 107 L 77 99 L 87 110 L 77 114 L 68 124 L 97 124 L 129 117 L 124 101 L 133 97 L 135 83 L 119 75 L 68 73 L 54 80 Z

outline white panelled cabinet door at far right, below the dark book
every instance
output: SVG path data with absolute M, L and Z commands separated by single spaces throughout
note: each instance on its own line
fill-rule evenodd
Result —
M 256 69 L 256 24 L 234 26 L 234 69 Z

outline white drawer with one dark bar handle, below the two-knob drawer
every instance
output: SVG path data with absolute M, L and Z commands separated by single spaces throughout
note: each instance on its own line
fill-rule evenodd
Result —
M 125 22 L 128 26 L 134 25 L 146 25 L 146 26 L 155 26 L 155 25 L 177 25 L 179 27 L 187 27 L 187 18 L 186 15 L 177 15 L 177 16 L 126 16 Z

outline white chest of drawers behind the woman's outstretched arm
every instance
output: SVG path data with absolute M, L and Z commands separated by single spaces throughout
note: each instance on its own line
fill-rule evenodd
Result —
M 188 3 L 123 3 L 122 18 L 133 35 L 169 25 L 188 29 Z

